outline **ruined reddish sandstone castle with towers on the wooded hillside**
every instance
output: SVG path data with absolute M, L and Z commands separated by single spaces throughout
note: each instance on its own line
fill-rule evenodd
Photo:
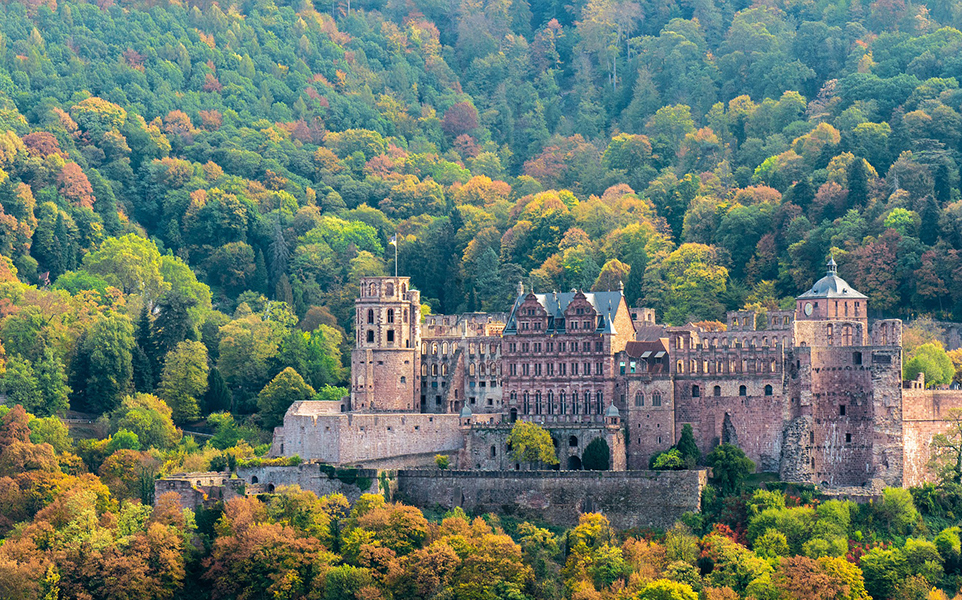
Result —
M 508 314 L 431 315 L 407 277 L 366 277 L 356 301 L 351 393 L 298 402 L 272 454 L 397 468 L 456 457 L 517 470 L 508 434 L 546 428 L 560 468 L 605 441 L 613 470 L 644 470 L 692 426 L 699 449 L 737 444 L 759 471 L 828 487 L 928 476 L 932 435 L 962 393 L 902 381 L 902 322 L 826 275 L 794 311 L 729 312 L 727 327 L 666 327 L 621 291 L 535 294 Z

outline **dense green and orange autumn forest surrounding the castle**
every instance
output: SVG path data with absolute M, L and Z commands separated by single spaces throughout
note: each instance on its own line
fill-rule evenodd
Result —
M 683 324 L 791 305 L 833 255 L 873 317 L 921 317 L 906 364 L 958 381 L 933 340 L 962 320 L 959 23 L 951 0 L 0 3 L 0 597 L 952 597 L 952 473 L 867 505 L 716 481 L 668 532 L 151 491 L 263 464 L 292 402 L 342 397 L 357 282 L 395 268 L 424 312 L 504 311 L 523 281 Z

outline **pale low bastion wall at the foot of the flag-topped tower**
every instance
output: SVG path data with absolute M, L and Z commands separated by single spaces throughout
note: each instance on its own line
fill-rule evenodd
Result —
M 458 415 L 309 414 L 309 407 L 288 411 L 283 437 L 284 456 L 335 465 L 457 452 L 464 445 Z

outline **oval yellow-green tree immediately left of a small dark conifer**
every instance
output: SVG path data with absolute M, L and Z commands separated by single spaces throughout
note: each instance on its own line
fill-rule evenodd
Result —
M 167 355 L 160 379 L 160 397 L 170 406 L 175 423 L 200 416 L 199 400 L 207 391 L 207 348 L 185 341 Z

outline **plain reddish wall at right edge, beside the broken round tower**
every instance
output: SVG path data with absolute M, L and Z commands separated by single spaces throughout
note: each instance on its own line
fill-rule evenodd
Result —
M 946 431 L 944 419 L 956 408 L 962 408 L 962 390 L 902 390 L 904 485 L 934 480 L 928 468 L 932 437 Z

